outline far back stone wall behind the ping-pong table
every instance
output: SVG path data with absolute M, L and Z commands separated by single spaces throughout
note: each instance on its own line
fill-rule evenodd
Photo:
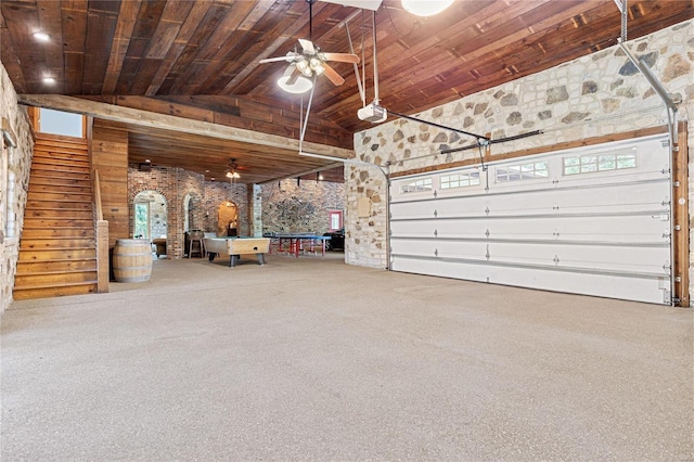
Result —
M 329 210 L 344 210 L 345 185 L 330 181 L 282 180 L 260 187 L 254 196 L 261 209 L 262 233 L 330 230 Z

